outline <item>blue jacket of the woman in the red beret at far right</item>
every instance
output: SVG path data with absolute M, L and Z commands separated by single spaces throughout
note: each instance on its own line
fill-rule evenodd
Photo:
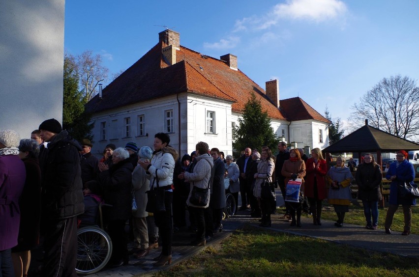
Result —
M 389 180 L 391 176 L 396 175 L 397 178 L 391 181 L 390 185 L 390 205 L 416 205 L 416 199 L 405 199 L 397 195 L 397 185 L 403 185 L 404 182 L 413 183 L 415 179 L 415 169 L 408 160 L 404 160 L 401 164 L 396 167 L 397 162 L 390 165 L 389 171 L 387 171 L 386 178 Z

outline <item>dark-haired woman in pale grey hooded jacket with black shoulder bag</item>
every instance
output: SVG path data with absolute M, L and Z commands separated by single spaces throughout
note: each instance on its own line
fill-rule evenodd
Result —
M 210 201 L 207 202 L 206 206 L 196 206 L 190 203 L 189 199 L 191 197 L 193 187 L 206 189 L 208 188 L 210 177 L 211 177 L 211 168 L 214 165 L 214 159 L 208 154 L 208 144 L 206 142 L 200 141 L 196 144 L 196 165 L 193 168 L 193 172 L 183 172 L 180 173 L 182 177 L 190 182 L 191 190 L 189 192 L 188 199 L 186 204 L 189 209 L 193 211 L 195 215 L 196 224 L 198 231 L 196 233 L 196 239 L 192 242 L 192 245 L 195 246 L 204 246 L 205 245 L 205 219 L 204 219 L 204 209 L 208 208 Z M 208 199 L 210 199 L 210 190 L 207 193 Z

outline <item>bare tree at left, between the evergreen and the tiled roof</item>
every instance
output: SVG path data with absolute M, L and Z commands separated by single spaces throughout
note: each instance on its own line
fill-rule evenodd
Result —
M 75 58 L 84 102 L 87 103 L 97 94 L 98 84 L 108 78 L 109 69 L 102 65 L 102 56 L 93 55 L 90 50 Z

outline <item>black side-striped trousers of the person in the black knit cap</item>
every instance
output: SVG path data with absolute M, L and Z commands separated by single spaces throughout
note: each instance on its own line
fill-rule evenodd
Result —
M 74 276 L 77 262 L 77 218 L 45 220 L 42 276 Z

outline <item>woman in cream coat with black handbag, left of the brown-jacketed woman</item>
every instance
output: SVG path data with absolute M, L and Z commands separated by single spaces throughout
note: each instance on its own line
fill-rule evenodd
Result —
M 265 181 L 268 181 L 269 183 L 272 182 L 272 174 L 273 170 L 275 168 L 275 164 L 273 162 L 273 159 L 270 157 L 272 156 L 272 152 L 269 148 L 266 148 L 262 151 L 262 159 L 260 163 L 258 164 L 258 172 L 253 175 L 253 177 L 256 179 L 255 187 L 253 189 L 253 195 L 257 197 L 259 206 L 261 209 L 262 214 L 262 223 L 259 224 L 261 227 L 270 227 L 270 201 L 271 199 L 266 199 L 261 196 L 262 191 L 262 183 Z

